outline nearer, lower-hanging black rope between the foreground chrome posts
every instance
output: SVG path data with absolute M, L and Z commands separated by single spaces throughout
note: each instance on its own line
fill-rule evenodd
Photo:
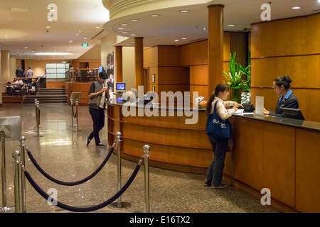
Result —
M 65 209 L 67 211 L 90 212 L 90 211 L 96 211 L 98 209 L 102 209 L 103 207 L 111 204 L 112 201 L 116 200 L 119 196 L 121 196 L 127 190 L 127 188 L 130 186 L 130 184 L 132 183 L 134 178 L 137 176 L 137 173 L 138 173 L 139 169 L 140 169 L 140 165 L 137 165 L 137 167 L 134 169 L 134 172 L 132 173 L 131 177 L 128 179 L 127 183 L 124 184 L 122 189 L 120 189 L 119 192 L 114 194 L 114 196 L 112 196 L 110 199 L 108 199 L 107 201 L 103 202 L 102 204 L 99 204 L 99 205 L 96 205 L 96 206 L 90 206 L 90 207 L 74 207 L 74 206 L 68 206 L 68 205 L 65 205 L 63 203 L 60 203 L 59 201 L 56 201 L 51 196 L 46 194 L 46 192 L 44 192 L 43 189 L 41 189 L 38 186 L 38 184 L 36 184 L 36 182 L 32 179 L 31 175 L 27 171 L 24 171 L 24 175 L 26 176 L 26 179 L 28 179 L 28 182 L 30 182 L 30 184 L 33 186 L 33 188 L 36 189 L 36 191 L 39 194 L 41 194 L 41 196 L 43 196 L 43 198 L 48 200 L 48 198 L 50 197 L 50 202 L 52 202 L 53 204 L 57 204 L 56 206 L 58 206 L 58 207 L 60 207 L 62 209 Z

